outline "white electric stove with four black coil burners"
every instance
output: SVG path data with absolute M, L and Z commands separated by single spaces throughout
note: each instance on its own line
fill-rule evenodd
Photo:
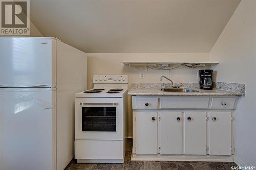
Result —
M 75 95 L 75 159 L 123 163 L 127 139 L 127 75 L 94 75 Z

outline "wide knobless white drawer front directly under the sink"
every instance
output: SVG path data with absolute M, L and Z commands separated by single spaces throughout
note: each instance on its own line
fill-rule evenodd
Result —
M 161 109 L 207 109 L 209 97 L 173 96 L 160 99 Z

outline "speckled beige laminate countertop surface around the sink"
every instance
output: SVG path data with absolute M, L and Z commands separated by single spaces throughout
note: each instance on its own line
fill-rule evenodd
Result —
M 184 96 L 195 96 L 195 95 L 237 95 L 241 96 L 241 92 L 234 91 L 224 91 L 219 89 L 212 90 L 201 90 L 199 88 L 189 88 L 193 90 L 197 90 L 199 92 L 166 92 L 161 91 L 159 88 L 138 88 L 131 89 L 128 92 L 128 95 L 184 95 Z

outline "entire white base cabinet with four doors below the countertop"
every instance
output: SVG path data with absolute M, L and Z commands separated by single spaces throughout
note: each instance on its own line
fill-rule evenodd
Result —
M 233 161 L 231 115 L 238 96 L 139 95 L 132 100 L 132 160 Z

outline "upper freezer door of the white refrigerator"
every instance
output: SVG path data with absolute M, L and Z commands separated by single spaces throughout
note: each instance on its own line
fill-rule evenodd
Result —
M 56 40 L 0 37 L 0 86 L 56 86 Z

